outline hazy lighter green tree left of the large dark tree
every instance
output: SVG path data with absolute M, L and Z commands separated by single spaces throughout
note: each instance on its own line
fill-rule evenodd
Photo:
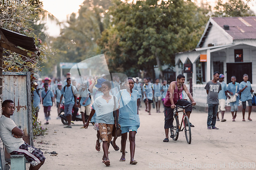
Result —
M 109 25 L 107 11 L 111 5 L 110 0 L 84 1 L 78 15 L 71 14 L 60 36 L 52 40 L 52 58 L 55 61 L 51 62 L 52 65 L 45 65 L 44 70 L 49 72 L 59 62 L 80 62 L 101 54 L 97 40 Z

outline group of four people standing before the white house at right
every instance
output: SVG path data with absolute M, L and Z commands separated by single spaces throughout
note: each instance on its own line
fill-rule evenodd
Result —
M 251 83 L 248 81 L 248 75 L 243 75 L 241 83 L 236 82 L 236 76 L 231 77 L 231 82 L 224 82 L 225 76 L 220 72 L 214 72 L 213 79 L 207 82 L 205 89 L 207 92 L 208 118 L 207 129 L 217 128 L 216 121 L 220 121 L 219 112 L 221 111 L 221 122 L 226 122 L 224 119 L 226 100 L 229 100 L 232 121 L 236 121 L 239 101 L 242 102 L 242 121 L 245 122 L 246 101 L 248 103 L 248 120 L 251 121 L 252 95 L 253 91 Z

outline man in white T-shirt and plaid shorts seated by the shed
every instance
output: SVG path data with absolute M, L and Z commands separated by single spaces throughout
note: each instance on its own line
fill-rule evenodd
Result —
M 23 130 L 19 129 L 10 118 L 15 107 L 12 100 L 6 100 L 2 104 L 3 113 L 0 117 L 0 137 L 8 153 L 11 155 L 24 155 L 30 163 L 31 170 L 37 170 L 45 162 L 43 153 L 25 143 L 22 139 Z

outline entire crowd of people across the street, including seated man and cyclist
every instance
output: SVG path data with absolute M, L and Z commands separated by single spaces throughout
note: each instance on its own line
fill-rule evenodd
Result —
M 176 105 L 186 106 L 185 112 L 190 117 L 192 106 L 196 105 L 193 96 L 184 84 L 185 76 L 178 75 L 176 81 L 169 85 L 166 80 L 160 83 L 155 79 L 155 83 L 150 78 L 144 79 L 144 84 L 139 78 L 120 78 L 118 76 L 96 76 L 93 80 L 76 84 L 71 80 L 71 74 L 67 74 L 65 82 L 60 80 L 52 81 L 45 78 L 42 82 L 35 82 L 33 93 L 33 106 L 36 109 L 35 116 L 38 116 L 40 103 L 44 107 L 46 125 L 49 124 L 50 111 L 53 104 L 56 105 L 59 113 L 60 105 L 65 106 L 65 116 L 68 119 L 68 125 L 64 128 L 72 128 L 72 120 L 75 119 L 77 111 L 80 108 L 84 129 L 87 129 L 90 122 L 94 123 L 94 129 L 97 131 L 95 149 L 100 151 L 102 143 L 103 157 L 102 162 L 110 166 L 109 147 L 110 144 L 118 151 L 116 144 L 118 136 L 114 136 L 113 129 L 117 127 L 117 122 L 121 128 L 121 157 L 119 161 L 125 161 L 126 140 L 129 133 L 130 140 L 130 164 L 137 164 L 135 156 L 135 137 L 140 127 L 139 110 L 141 100 L 145 103 L 145 111 L 151 115 L 151 107 L 155 105 L 156 112 L 160 113 L 161 103 L 164 107 L 164 131 L 165 139 L 168 142 L 169 128 L 173 126 L 174 109 Z M 224 112 L 226 99 L 229 100 L 232 113 L 232 121 L 236 121 L 239 101 L 242 101 L 243 121 L 245 121 L 246 101 L 248 102 L 248 120 L 251 121 L 250 113 L 252 107 L 251 93 L 253 92 L 251 84 L 248 81 L 248 75 L 243 76 L 244 81 L 236 82 L 236 77 L 231 77 L 231 83 L 228 86 L 224 83 L 224 75 L 218 71 L 214 72 L 213 79 L 207 82 L 205 89 L 207 93 L 208 118 L 207 129 L 218 129 L 216 121 L 219 120 L 218 112 L 221 111 L 221 122 L 225 122 Z M 122 81 L 121 81 L 122 80 Z M 185 92 L 191 101 L 182 98 L 182 92 Z M 92 104 L 92 106 L 91 106 Z M 154 105 L 153 105 L 154 104 Z M 76 108 L 73 113 L 72 109 Z M 42 152 L 28 145 L 22 139 L 23 131 L 19 129 L 10 115 L 14 113 L 14 103 L 6 100 L 2 105 L 3 114 L 0 118 L 0 137 L 10 154 L 23 154 L 31 163 L 30 169 L 39 169 L 44 164 L 45 157 Z M 114 114 L 114 113 L 116 114 Z M 75 114 L 74 114 L 75 113 Z M 190 123 L 190 127 L 195 127 Z M 174 135 L 170 134 L 173 138 Z M 113 139 L 113 140 L 112 140 Z

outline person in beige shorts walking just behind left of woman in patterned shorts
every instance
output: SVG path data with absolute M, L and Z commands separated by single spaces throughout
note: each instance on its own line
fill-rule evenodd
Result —
M 79 94 L 79 105 L 80 107 L 80 112 L 82 114 L 82 123 L 83 126 L 86 124 L 86 119 L 89 117 L 91 113 L 91 99 L 90 99 L 90 92 L 87 88 L 87 85 L 83 83 L 81 85 L 81 89 L 78 91 Z M 84 115 L 86 113 L 86 115 Z

